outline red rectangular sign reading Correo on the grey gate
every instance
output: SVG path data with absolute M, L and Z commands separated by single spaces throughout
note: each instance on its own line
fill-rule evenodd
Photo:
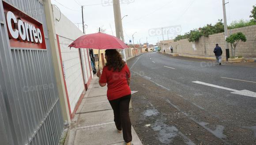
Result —
M 4 1 L 3 6 L 11 47 L 46 49 L 43 25 Z

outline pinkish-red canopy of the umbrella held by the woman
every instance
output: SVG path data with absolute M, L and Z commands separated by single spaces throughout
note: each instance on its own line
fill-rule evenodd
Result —
M 123 41 L 115 36 L 105 33 L 94 33 L 79 37 L 68 47 L 89 49 L 125 49 L 129 48 Z

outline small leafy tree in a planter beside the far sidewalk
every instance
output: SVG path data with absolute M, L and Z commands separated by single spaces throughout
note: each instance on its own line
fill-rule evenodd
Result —
M 231 49 L 233 50 L 233 54 L 232 54 L 233 57 L 235 57 L 235 50 L 240 41 L 242 42 L 247 41 L 245 34 L 241 32 L 234 33 L 226 38 L 226 42 L 230 43 Z

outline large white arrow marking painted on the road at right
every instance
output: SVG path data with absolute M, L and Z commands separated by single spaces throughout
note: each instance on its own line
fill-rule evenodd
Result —
M 243 95 L 243 96 L 248 96 L 248 97 L 254 97 L 256 98 L 256 93 L 252 92 L 252 91 L 248 91 L 248 90 L 235 90 L 235 89 L 230 89 L 227 87 L 221 87 L 221 86 L 217 86 L 211 83 L 204 83 L 204 82 L 200 82 L 200 81 L 194 81 L 192 83 L 198 83 L 198 84 L 202 84 L 202 85 L 206 85 L 206 86 L 210 86 L 210 87 L 216 87 L 219 89 L 224 89 L 224 90 L 228 90 L 228 91 L 232 91 L 231 94 L 239 94 L 239 95 Z

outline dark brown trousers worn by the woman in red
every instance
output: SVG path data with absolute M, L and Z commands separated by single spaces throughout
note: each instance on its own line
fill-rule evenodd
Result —
M 114 111 L 114 121 L 118 130 L 123 130 L 123 138 L 125 142 L 132 141 L 132 123 L 129 115 L 129 103 L 131 94 L 109 101 Z

